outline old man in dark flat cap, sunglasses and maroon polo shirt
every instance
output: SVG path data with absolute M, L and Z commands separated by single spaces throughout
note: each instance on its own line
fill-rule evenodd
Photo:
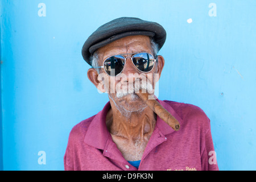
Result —
M 218 170 L 204 111 L 154 95 L 165 63 L 158 51 L 165 40 L 160 24 L 122 17 L 85 41 L 82 56 L 92 66 L 88 78 L 109 102 L 71 130 L 65 170 Z M 163 121 L 139 97 L 142 92 L 158 101 L 180 129 Z

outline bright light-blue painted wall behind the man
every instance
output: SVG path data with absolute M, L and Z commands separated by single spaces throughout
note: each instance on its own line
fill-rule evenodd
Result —
M 159 99 L 205 111 L 221 170 L 255 170 L 255 12 L 253 0 L 1 0 L 0 167 L 64 169 L 69 131 L 108 101 L 86 76 L 82 44 L 101 24 L 135 16 L 167 31 Z

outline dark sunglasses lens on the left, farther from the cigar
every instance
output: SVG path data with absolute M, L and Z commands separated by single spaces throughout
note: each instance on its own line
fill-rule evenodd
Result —
M 125 66 L 125 58 L 123 56 L 112 56 L 104 61 L 104 69 L 110 76 L 117 76 L 122 72 Z

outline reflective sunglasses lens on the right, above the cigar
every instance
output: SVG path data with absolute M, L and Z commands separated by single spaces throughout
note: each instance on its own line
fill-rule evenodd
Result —
M 142 72 L 150 72 L 154 63 L 154 57 L 150 53 L 137 53 L 133 56 L 133 64 Z

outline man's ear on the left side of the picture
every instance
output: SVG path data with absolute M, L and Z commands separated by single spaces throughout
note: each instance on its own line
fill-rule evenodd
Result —
M 93 83 L 93 85 L 96 86 L 100 92 L 104 93 L 105 88 L 104 88 L 104 77 L 99 77 L 98 72 L 94 68 L 90 68 L 87 71 L 87 76 L 89 80 Z M 102 79 L 103 78 L 103 79 Z

